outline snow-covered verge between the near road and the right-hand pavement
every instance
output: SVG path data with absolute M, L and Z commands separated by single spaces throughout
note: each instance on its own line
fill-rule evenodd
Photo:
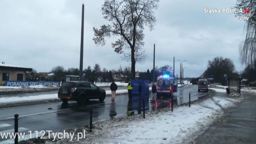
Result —
M 93 124 L 92 132 L 89 132 L 88 126 L 65 131 L 74 134 L 72 138 L 70 135 L 69 138 L 54 138 L 59 133 L 53 133 L 50 134 L 50 139 L 49 136 L 44 136 L 46 139 L 37 140 L 43 140 L 43 143 L 47 144 L 189 143 L 224 114 L 223 108 L 234 107 L 236 102 L 240 101 L 237 98 L 214 96 L 195 102 L 191 107 L 175 106 L 173 112 L 170 107 L 148 112 L 145 115 L 146 119 L 143 119 L 143 114 L 136 114 L 96 122 Z M 34 143 L 37 140 L 34 140 Z M 29 141 L 33 143 L 32 140 Z

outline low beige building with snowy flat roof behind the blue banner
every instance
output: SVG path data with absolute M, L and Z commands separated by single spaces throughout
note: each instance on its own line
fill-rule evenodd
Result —
M 32 68 L 8 65 L 2 62 L 0 64 L 0 84 L 5 84 L 5 81 L 25 81 L 28 72 L 32 72 Z

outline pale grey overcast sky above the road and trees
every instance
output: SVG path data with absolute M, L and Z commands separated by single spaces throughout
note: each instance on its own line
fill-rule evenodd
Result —
M 108 70 L 128 65 L 111 47 L 96 46 L 93 27 L 106 24 L 101 7 L 104 0 L 1 0 L 0 1 L 0 59 L 5 64 L 25 66 L 37 72 L 49 72 L 54 66 L 79 68 L 81 42 L 81 10 L 84 15 L 83 69 L 99 63 Z M 183 62 L 184 75 L 200 76 L 208 60 L 222 56 L 231 58 L 236 70 L 239 63 L 239 44 L 245 38 L 245 21 L 233 13 L 204 13 L 210 9 L 231 8 L 236 0 L 160 0 L 155 10 L 157 19 L 153 31 L 145 28 L 148 57 L 136 64 L 136 71 L 153 68 L 153 49 L 156 44 L 155 66 L 173 67 L 179 74 Z

